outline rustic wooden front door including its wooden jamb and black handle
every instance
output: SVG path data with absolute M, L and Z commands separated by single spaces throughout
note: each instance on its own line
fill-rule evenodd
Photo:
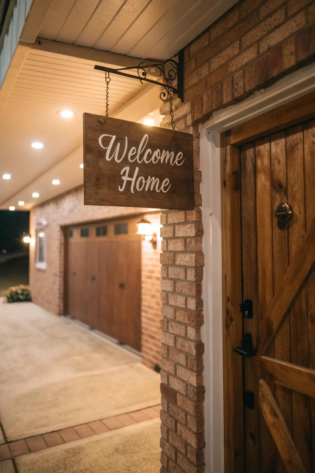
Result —
M 222 244 L 235 252 L 223 248 L 229 472 L 315 471 L 315 121 L 300 104 L 281 127 L 280 110 L 261 117 L 277 117 L 274 132 L 250 139 L 248 123 L 238 141 L 222 137 Z

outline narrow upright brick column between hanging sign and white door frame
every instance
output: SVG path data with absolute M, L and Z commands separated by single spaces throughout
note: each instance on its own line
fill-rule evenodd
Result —
M 176 130 L 194 134 L 195 210 L 163 211 L 161 321 L 161 472 L 204 471 L 202 213 L 199 134 L 190 104 L 174 100 Z M 161 113 L 167 113 L 167 105 Z M 170 117 L 162 126 L 170 126 Z

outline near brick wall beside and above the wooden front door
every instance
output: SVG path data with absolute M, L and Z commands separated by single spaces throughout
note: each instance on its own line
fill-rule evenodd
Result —
M 314 61 L 315 2 L 241 0 L 185 48 L 176 130 L 194 136 L 195 210 L 163 211 L 161 472 L 204 472 L 202 196 L 197 124 Z M 170 128 L 168 104 L 162 126 Z M 221 317 L 221 314 L 218 315 Z

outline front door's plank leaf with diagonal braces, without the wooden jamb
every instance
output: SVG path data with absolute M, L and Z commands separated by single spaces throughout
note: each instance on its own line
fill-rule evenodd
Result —
M 303 471 L 292 466 L 300 465 L 299 461 L 306 472 L 315 468 L 315 403 L 300 392 L 298 381 L 310 376 L 302 367 L 315 368 L 314 271 L 306 279 L 303 276 L 300 287 L 293 283 L 303 273 L 303 265 L 311 267 L 308 260 L 313 258 L 300 245 L 305 244 L 303 238 L 315 218 L 314 162 L 314 121 L 240 147 L 243 300 L 253 300 L 253 319 L 244 319 L 243 328 L 252 334 L 259 355 L 268 357 L 265 362 L 259 356 L 244 359 L 244 390 L 254 393 L 254 408 L 244 413 L 247 473 Z M 289 202 L 294 212 L 289 223 L 282 225 L 275 216 L 281 202 Z M 312 253 L 314 237 L 306 236 Z M 297 254 L 304 255 L 301 261 Z M 287 284 L 295 265 L 293 282 Z M 281 293 L 284 284 L 294 293 Z M 279 315 L 281 298 L 289 302 L 286 314 Z M 280 330 L 276 320 L 281 321 Z M 268 349 L 263 350 L 268 338 Z M 278 367 L 269 358 L 289 364 Z M 264 369 L 260 370 L 261 363 Z M 313 393 L 313 388 L 305 392 Z M 290 442 L 294 447 L 288 447 Z

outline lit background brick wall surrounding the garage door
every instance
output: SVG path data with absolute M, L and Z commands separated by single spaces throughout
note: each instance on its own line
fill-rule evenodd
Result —
M 131 207 L 103 207 L 84 205 L 83 187 L 77 187 L 51 201 L 35 207 L 30 213 L 30 234 L 36 235 L 36 226 L 43 220 L 46 225 L 47 269 L 35 267 L 35 244 L 30 245 L 30 289 L 35 304 L 53 314 L 63 314 L 64 288 L 64 238 L 62 226 L 111 219 L 119 216 L 135 215 L 149 209 Z M 159 233 L 159 214 L 146 214 Z M 156 248 L 144 240 L 142 242 L 142 313 L 141 334 L 143 362 L 153 368 L 160 362 L 160 319 L 161 319 L 161 239 Z

